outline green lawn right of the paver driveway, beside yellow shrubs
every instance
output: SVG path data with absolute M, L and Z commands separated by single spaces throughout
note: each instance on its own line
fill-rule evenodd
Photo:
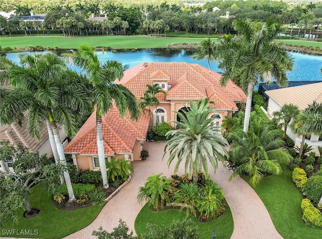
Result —
M 308 227 L 301 215 L 302 195 L 292 183 L 292 172 L 283 167 L 282 175 L 264 178 L 254 188 L 284 238 L 322 238 L 322 230 Z

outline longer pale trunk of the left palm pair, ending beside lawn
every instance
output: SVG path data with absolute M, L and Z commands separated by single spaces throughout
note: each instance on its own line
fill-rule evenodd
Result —
M 65 154 L 64 154 L 64 149 L 62 148 L 62 144 L 61 144 L 61 140 L 60 140 L 60 135 L 57 129 L 57 125 L 56 123 L 50 123 L 52 131 L 54 133 L 54 138 L 55 138 L 55 143 L 57 146 L 57 151 L 59 154 L 59 159 L 60 159 L 60 163 L 62 163 L 63 165 L 67 166 L 66 164 L 66 158 L 65 158 Z M 65 178 L 65 182 L 66 182 L 66 187 L 67 187 L 67 191 L 68 191 L 68 196 L 69 196 L 69 200 L 68 202 L 73 202 L 76 200 L 74 192 L 72 190 L 72 186 L 71 186 L 71 181 L 70 181 L 70 176 L 68 173 L 67 168 L 64 171 L 64 178 Z

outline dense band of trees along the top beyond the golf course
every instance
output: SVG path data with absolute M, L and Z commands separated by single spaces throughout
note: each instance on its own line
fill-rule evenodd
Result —
M 44 5 L 34 8 L 32 5 L 9 5 L 16 10 L 17 16 L 35 13 L 47 13 L 45 22 L 23 22 L 12 19 L 8 22 L 0 17 L 0 29 L 3 33 L 20 33 L 30 35 L 31 29 L 45 34 L 47 30 L 62 33 L 66 37 L 83 35 L 129 35 L 152 34 L 160 36 L 168 32 L 183 31 L 186 33 L 219 33 L 233 31 L 234 19 L 265 22 L 274 19 L 278 23 L 287 24 L 293 31 L 319 31 L 322 24 L 322 3 L 306 4 L 291 7 L 283 2 L 268 1 L 214 1 L 202 7 L 184 6 L 183 4 L 133 5 L 124 7 L 110 3 L 70 3 L 67 5 Z M 29 7 L 32 6 L 32 7 Z M 213 11 L 217 7 L 220 10 Z M 2 7 L 3 10 L 9 10 Z M 226 12 L 229 18 L 223 18 Z M 91 16 L 106 17 L 97 21 Z M 60 31 L 59 31 L 60 30 Z M 299 34 L 299 33 L 298 33 Z

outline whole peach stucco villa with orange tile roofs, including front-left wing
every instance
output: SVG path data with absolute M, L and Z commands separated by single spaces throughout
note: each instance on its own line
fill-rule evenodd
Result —
M 243 90 L 232 81 L 225 87 L 221 86 L 220 77 L 215 71 L 185 62 L 143 62 L 126 70 L 124 77 L 115 83 L 126 86 L 138 102 L 147 84 L 159 84 L 167 92 L 167 96 L 162 93 L 156 95 L 160 104 L 150 107 L 152 118 L 147 109 L 137 122 L 132 122 L 128 114 L 120 118 L 116 108 L 112 108 L 104 116 L 102 129 L 106 158 L 141 160 L 140 151 L 148 129 L 156 122 L 167 122 L 176 128 L 176 124 L 170 122 L 180 120 L 174 111 L 186 111 L 189 108 L 189 99 L 198 101 L 208 97 L 213 101 L 214 112 L 209 117 L 214 118 L 213 124 L 220 126 L 226 116 L 231 116 L 238 110 L 236 103 L 246 102 L 247 99 Z M 99 170 L 95 112 L 64 151 L 72 155 L 78 170 Z

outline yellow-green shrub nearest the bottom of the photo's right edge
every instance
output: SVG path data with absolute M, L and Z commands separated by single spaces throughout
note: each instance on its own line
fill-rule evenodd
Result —
M 302 219 L 308 226 L 322 228 L 322 214 L 313 206 L 308 199 L 303 199 L 301 203 Z

